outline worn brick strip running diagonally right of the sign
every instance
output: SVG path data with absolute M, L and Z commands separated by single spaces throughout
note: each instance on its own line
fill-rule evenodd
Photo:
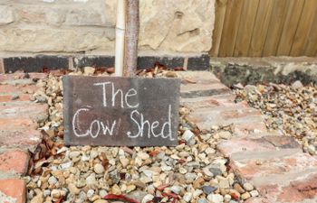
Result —
M 217 148 L 230 159 L 242 182 L 259 190 L 261 198 L 246 203 L 317 202 L 317 159 L 283 135 L 269 134 L 260 112 L 235 96 L 208 72 L 178 73 L 188 85 L 181 103 L 192 109 L 187 120 L 202 131 L 214 125 L 234 125 L 234 137 Z

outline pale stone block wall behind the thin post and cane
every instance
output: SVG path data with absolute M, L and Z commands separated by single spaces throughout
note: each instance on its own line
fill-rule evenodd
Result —
M 117 0 L 1 0 L 0 57 L 113 55 Z M 211 49 L 215 0 L 140 0 L 145 55 Z

